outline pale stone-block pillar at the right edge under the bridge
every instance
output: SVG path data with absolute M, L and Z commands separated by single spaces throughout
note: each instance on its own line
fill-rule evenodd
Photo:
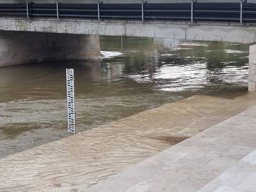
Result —
M 256 91 L 256 44 L 249 51 L 249 91 Z

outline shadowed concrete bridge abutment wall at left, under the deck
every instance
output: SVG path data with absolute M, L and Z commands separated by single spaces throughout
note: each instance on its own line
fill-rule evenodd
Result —
M 98 56 L 98 35 L 0 31 L 0 67 Z

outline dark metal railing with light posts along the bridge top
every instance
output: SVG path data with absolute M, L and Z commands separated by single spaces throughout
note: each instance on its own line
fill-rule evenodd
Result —
M 256 3 L 0 4 L 0 17 L 256 22 Z

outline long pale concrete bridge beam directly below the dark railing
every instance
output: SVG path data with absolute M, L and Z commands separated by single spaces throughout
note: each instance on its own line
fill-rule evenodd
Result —
M 233 23 L 0 18 L 0 30 L 254 43 L 256 27 Z

